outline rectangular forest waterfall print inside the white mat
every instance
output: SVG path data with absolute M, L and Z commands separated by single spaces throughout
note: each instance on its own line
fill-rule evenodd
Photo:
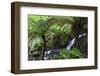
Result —
M 87 17 L 28 15 L 28 60 L 87 58 Z

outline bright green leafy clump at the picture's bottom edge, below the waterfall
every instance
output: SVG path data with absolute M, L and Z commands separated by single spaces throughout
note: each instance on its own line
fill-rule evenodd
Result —
M 67 50 L 66 48 L 61 49 L 59 55 L 54 55 L 52 59 L 76 59 L 82 58 L 82 53 L 77 48 L 72 48 L 72 50 Z

